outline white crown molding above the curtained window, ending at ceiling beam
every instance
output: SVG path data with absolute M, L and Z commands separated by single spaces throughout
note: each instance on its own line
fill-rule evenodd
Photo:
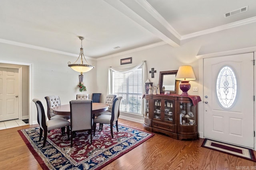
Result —
M 134 53 L 136 51 L 141 51 L 141 50 L 145 50 L 145 49 L 150 49 L 152 47 L 157 47 L 157 46 L 160 46 L 160 45 L 165 45 L 167 44 L 166 42 L 164 41 L 161 41 L 159 43 L 154 43 L 154 44 L 150 44 L 150 45 L 145 45 L 145 46 L 142 46 L 142 47 L 138 47 L 136 49 L 131 49 L 131 50 L 127 50 L 127 51 L 122 51 L 120 53 L 115 53 L 115 54 L 112 54 L 112 55 L 106 55 L 104 57 L 100 57 L 100 58 L 97 58 L 97 61 L 98 60 L 104 60 L 104 59 L 109 59 L 109 58 L 112 58 L 112 57 L 117 57 L 117 56 L 120 56 L 120 55 L 126 55 L 126 54 L 129 54 L 129 53 Z

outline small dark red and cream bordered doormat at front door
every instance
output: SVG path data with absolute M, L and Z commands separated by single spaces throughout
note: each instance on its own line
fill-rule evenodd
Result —
M 213 141 L 210 139 L 204 139 L 204 142 L 202 143 L 202 147 L 212 149 L 212 150 L 217 150 L 220 152 L 224 152 L 227 154 L 231 154 L 233 156 L 238 156 L 240 158 L 252 160 L 256 162 L 254 153 L 252 149 L 247 149 L 243 147 L 238 147 L 226 143 L 221 143 L 217 141 Z

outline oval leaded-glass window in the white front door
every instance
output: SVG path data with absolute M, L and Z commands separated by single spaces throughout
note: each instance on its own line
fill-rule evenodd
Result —
M 222 107 L 228 109 L 234 104 L 237 82 L 236 75 L 230 66 L 224 66 L 220 69 L 216 83 L 216 92 Z

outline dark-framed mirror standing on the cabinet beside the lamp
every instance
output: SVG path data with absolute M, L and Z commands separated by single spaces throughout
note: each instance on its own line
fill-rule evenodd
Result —
M 175 80 L 178 70 L 160 71 L 159 86 L 160 93 L 169 91 L 172 94 L 178 94 L 179 80 Z

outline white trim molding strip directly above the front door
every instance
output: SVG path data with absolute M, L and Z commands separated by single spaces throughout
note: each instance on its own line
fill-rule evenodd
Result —
M 243 48 L 243 49 L 222 51 L 222 52 L 218 52 L 218 53 L 209 53 L 209 54 L 197 55 L 196 58 L 197 59 L 206 59 L 206 58 L 221 57 L 221 56 L 226 56 L 226 55 L 252 53 L 254 51 L 256 51 L 256 47 L 248 47 L 248 48 Z

